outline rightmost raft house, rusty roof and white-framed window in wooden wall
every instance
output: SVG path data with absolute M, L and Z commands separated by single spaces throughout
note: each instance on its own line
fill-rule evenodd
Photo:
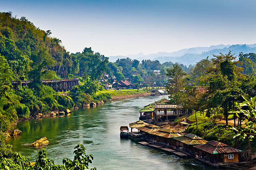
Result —
M 224 143 L 215 140 L 209 141 L 206 144 L 194 146 L 197 159 L 210 163 L 237 163 L 238 154 L 241 150 L 229 147 Z

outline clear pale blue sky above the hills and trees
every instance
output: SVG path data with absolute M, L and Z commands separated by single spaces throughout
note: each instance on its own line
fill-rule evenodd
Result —
M 0 0 L 69 52 L 105 56 L 256 43 L 256 0 Z

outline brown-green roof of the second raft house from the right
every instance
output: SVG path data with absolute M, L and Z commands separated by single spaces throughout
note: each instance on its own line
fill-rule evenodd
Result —
M 187 145 L 200 145 L 200 144 L 207 143 L 207 140 L 204 140 L 204 139 L 200 138 L 199 136 L 194 135 L 192 133 L 189 133 L 184 136 L 175 137 L 174 139 L 177 141 L 180 141 L 184 144 L 187 144 Z

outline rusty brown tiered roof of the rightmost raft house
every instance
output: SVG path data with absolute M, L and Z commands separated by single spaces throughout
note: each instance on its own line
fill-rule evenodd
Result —
M 196 145 L 194 147 L 199 150 L 203 150 L 207 153 L 211 153 L 211 154 L 241 152 L 241 150 L 229 147 L 228 145 L 226 145 L 224 143 L 217 142 L 215 140 L 211 140 L 211 141 L 207 142 L 206 144 Z

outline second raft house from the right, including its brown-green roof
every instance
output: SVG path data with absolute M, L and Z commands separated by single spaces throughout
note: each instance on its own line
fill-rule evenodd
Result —
M 195 152 L 195 145 L 205 144 L 206 140 L 197 135 L 189 133 L 184 136 L 173 138 L 177 149 L 181 149 L 187 153 L 193 154 Z

